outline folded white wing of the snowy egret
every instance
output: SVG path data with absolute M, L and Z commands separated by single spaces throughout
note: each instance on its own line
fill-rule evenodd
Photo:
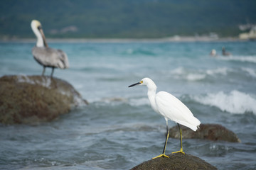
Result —
M 185 125 L 194 131 L 200 125 L 200 121 L 193 116 L 193 113 L 178 98 L 165 91 L 160 91 L 156 94 L 156 106 L 164 117 Z

